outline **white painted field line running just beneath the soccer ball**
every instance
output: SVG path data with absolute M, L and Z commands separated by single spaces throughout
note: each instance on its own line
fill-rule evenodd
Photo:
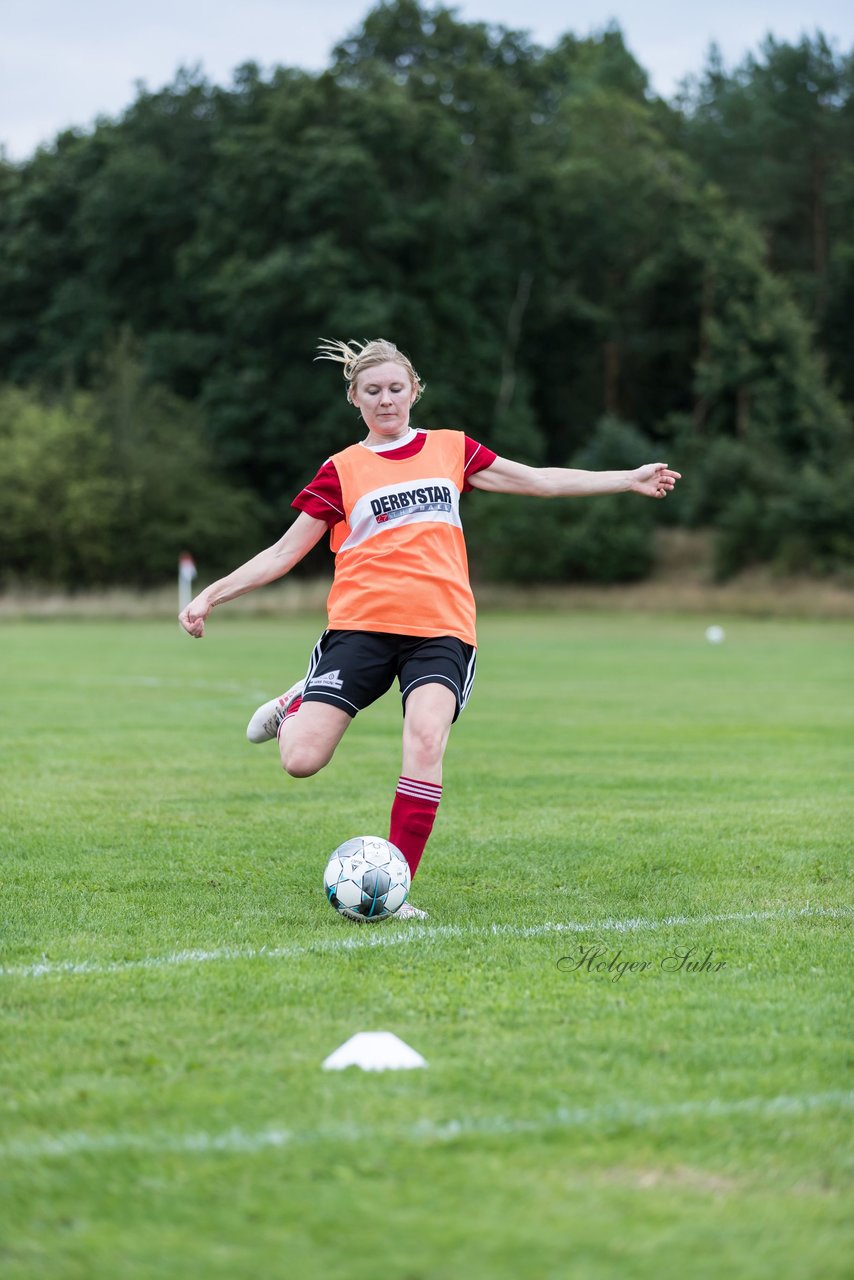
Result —
M 367 947 L 398 947 L 444 938 L 539 938 L 565 933 L 634 933 L 668 928 L 703 928 L 709 924 L 754 924 L 764 920 L 798 920 L 804 918 L 850 919 L 854 908 L 802 906 L 775 908 L 768 911 L 725 911 L 720 915 L 666 915 L 661 919 L 631 916 L 629 919 L 562 920 L 554 924 L 408 924 L 397 927 L 383 922 L 362 927 L 343 938 L 319 938 L 316 942 L 292 943 L 284 947 L 216 947 L 213 951 L 172 951 L 137 960 L 38 960 L 28 965 L 0 965 L 0 978 L 46 978 L 54 975 L 86 975 L 129 973 L 138 969 L 172 969 L 179 965 L 213 964 L 228 960 L 292 960 L 316 952 L 361 951 Z

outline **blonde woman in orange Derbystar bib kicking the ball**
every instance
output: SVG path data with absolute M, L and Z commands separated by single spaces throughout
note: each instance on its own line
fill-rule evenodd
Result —
M 297 494 L 287 532 L 181 614 L 191 636 L 210 611 L 289 572 L 329 530 L 335 573 L 329 625 L 303 680 L 259 707 L 247 737 L 278 737 L 296 778 L 332 759 L 353 717 L 394 678 L 403 703 L 403 758 L 389 840 L 417 870 L 442 797 L 442 759 L 475 675 L 475 602 L 469 584 L 460 497 L 470 489 L 581 498 L 639 493 L 665 498 L 681 479 L 665 462 L 634 471 L 529 467 L 498 457 L 462 431 L 419 430 L 410 411 L 424 385 L 397 347 L 324 342 L 367 434 L 333 454 Z M 319 357 L 320 358 L 320 357 Z M 424 916 L 405 902 L 398 916 Z

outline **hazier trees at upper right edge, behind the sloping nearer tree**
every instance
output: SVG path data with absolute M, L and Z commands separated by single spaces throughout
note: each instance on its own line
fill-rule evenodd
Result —
M 767 260 L 813 321 L 854 399 L 854 60 L 817 35 L 763 44 L 727 74 L 712 52 L 680 101 L 703 172 L 764 234 Z

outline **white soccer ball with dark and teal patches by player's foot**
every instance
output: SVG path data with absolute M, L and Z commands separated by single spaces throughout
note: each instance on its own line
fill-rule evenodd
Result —
M 406 902 L 410 868 L 391 841 L 355 836 L 330 854 L 323 890 L 348 920 L 385 920 Z

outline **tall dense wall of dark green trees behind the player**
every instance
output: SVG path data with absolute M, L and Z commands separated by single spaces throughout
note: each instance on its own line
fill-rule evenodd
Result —
M 152 577 L 166 535 L 225 567 L 248 524 L 224 526 L 216 554 L 198 532 L 205 506 L 243 509 L 216 467 L 275 536 L 352 439 L 341 383 L 311 366 L 326 334 L 392 337 L 429 384 L 420 424 L 526 461 L 585 465 L 622 422 L 611 465 L 682 470 L 685 497 L 656 518 L 716 525 L 722 573 L 839 568 L 854 549 L 851 68 L 821 36 L 769 40 L 732 73 L 712 58 L 668 106 L 616 29 L 542 49 L 397 0 L 321 74 L 250 64 L 224 88 L 182 73 L 122 119 L 0 164 L 0 380 L 27 388 L 31 420 L 44 404 L 31 463 L 56 412 L 96 412 L 69 388 L 93 393 L 124 333 L 151 396 L 192 424 L 166 433 L 174 457 L 154 431 L 150 470 L 177 477 L 184 447 L 205 458 L 192 497 L 165 485 L 154 541 L 157 503 L 151 520 L 125 512 L 123 562 L 95 545 L 109 512 L 76 509 L 122 470 L 108 433 L 95 489 L 55 477 L 58 512 L 92 536 L 29 572 L 77 584 L 134 576 L 129 562 Z M 15 573 L 20 506 L 0 520 Z M 474 561 L 636 577 L 641 506 L 544 516 L 476 498 Z

